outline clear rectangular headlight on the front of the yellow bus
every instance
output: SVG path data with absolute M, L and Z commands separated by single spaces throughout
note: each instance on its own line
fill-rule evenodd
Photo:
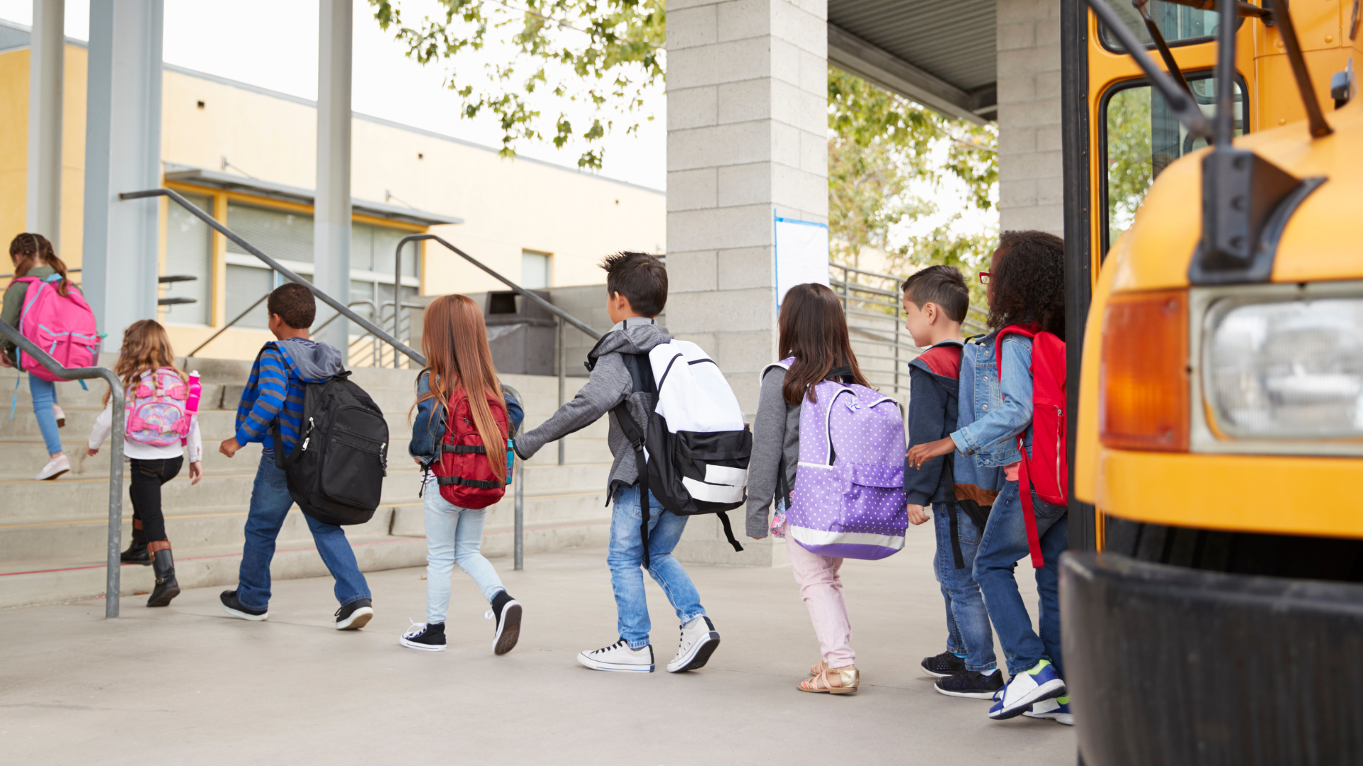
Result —
M 1223 298 L 1202 338 L 1204 397 L 1220 432 L 1363 436 L 1363 298 Z

